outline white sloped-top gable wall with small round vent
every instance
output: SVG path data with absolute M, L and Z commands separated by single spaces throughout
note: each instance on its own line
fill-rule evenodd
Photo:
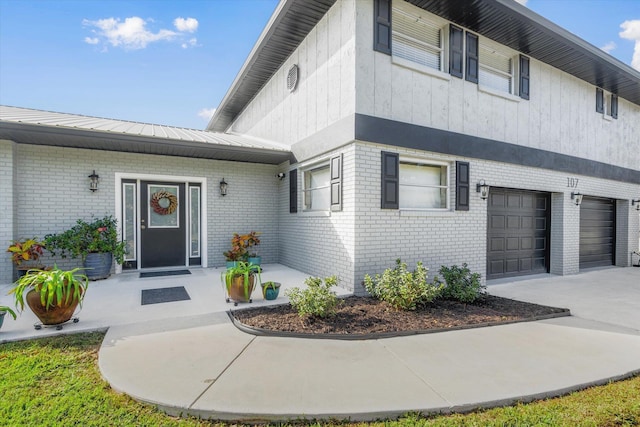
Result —
M 353 115 L 355 4 L 336 2 L 240 113 L 232 132 L 293 144 Z M 286 76 L 293 64 L 300 74 L 289 92 Z

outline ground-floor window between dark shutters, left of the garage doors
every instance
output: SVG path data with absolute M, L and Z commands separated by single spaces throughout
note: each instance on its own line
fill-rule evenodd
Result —
M 400 161 L 400 209 L 448 209 L 448 189 L 447 165 Z

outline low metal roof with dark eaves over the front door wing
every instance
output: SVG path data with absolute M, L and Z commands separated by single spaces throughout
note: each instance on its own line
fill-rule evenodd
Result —
M 0 105 L 0 139 L 23 144 L 278 164 L 284 144 L 173 126 Z

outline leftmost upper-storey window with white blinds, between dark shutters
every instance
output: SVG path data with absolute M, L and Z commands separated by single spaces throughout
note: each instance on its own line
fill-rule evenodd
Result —
M 408 3 L 393 3 L 393 55 L 441 71 L 442 26 L 424 15 L 424 10 Z

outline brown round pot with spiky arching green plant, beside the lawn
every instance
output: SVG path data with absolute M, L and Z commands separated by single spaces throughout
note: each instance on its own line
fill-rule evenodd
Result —
M 89 285 L 80 268 L 61 270 L 29 270 L 9 291 L 15 306 L 24 310 L 25 301 L 43 325 L 59 325 L 71 319 L 78 305 L 82 305 Z

